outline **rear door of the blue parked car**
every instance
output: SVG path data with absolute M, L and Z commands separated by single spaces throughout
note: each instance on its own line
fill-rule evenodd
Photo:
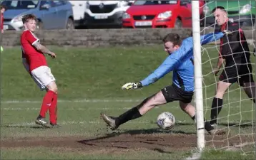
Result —
M 57 28 L 65 28 L 67 24 L 67 18 L 69 13 L 69 8 L 67 6 L 67 1 L 52 1 L 54 8 L 57 10 L 58 25 Z

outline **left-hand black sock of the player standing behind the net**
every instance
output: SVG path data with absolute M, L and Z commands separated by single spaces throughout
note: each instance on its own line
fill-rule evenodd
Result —
M 223 100 L 220 98 L 214 97 L 212 100 L 212 110 L 211 110 L 211 122 L 217 123 L 217 116 L 222 110 Z

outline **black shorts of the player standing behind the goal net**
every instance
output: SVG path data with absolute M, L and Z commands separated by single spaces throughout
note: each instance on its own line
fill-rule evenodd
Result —
M 231 63 L 225 66 L 220 78 L 222 82 L 235 83 L 243 85 L 245 82 L 254 82 L 252 75 L 252 65 L 250 60 L 247 63 Z

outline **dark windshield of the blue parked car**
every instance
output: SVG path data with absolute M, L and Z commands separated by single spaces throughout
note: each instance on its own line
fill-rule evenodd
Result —
M 38 1 L 3 1 L 1 4 L 7 9 L 34 9 Z

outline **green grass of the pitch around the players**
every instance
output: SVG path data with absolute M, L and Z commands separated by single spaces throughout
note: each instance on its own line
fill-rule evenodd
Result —
M 216 65 L 217 51 L 214 46 L 207 47 L 203 53 L 202 71 L 204 76 L 204 105 L 205 115 L 210 116 L 212 97 L 215 94 L 215 82 L 217 77 L 212 75 L 211 65 Z M 212 48 L 213 47 L 213 48 Z M 166 58 L 162 46 L 144 47 L 115 47 L 115 48 L 51 48 L 57 54 L 56 60 L 47 57 L 51 71 L 57 80 L 59 88 L 58 122 L 62 126 L 59 129 L 41 129 L 36 127 L 34 119 L 39 114 L 41 99 L 45 92 L 31 80 L 21 64 L 20 48 L 6 48 L 1 53 L 1 141 L 17 141 L 26 138 L 43 137 L 79 137 L 90 139 L 92 137 L 104 137 L 112 132 L 107 130 L 100 112 L 118 115 L 134 107 L 141 100 L 162 87 L 172 84 L 172 74 L 166 75 L 158 82 L 140 90 L 121 90 L 125 82 L 142 80 Z M 252 56 L 252 63 L 255 58 Z M 207 61 L 210 60 L 210 61 Z M 255 65 L 253 65 L 255 68 Z M 212 85 L 213 84 L 213 85 Z M 207 86 L 207 87 L 206 87 Z M 26 100 L 33 102 L 24 102 Z M 16 102 L 14 102 L 16 101 Z M 245 93 L 235 84 L 230 87 L 230 92 L 225 95 L 225 106 L 220 114 L 220 128 L 229 127 L 227 137 L 252 134 L 252 119 L 254 119 L 254 106 L 247 99 Z M 177 102 L 172 102 L 162 107 L 155 108 L 140 119 L 128 122 L 119 128 L 117 133 L 153 136 L 159 140 L 162 136 L 169 136 L 175 140 L 192 137 L 196 139 L 195 124 L 178 107 Z M 161 112 L 172 112 L 177 119 L 177 125 L 171 132 L 157 129 L 154 123 Z M 239 126 L 239 124 L 243 124 Z M 221 140 L 227 137 L 222 137 Z M 214 139 L 213 139 L 214 140 Z M 250 141 L 252 135 L 242 139 Z M 212 138 L 207 137 L 211 142 Z M 115 142 L 113 142 L 115 143 Z M 132 143 L 132 142 L 131 142 Z M 192 143 L 192 142 L 191 142 Z M 159 149 L 150 150 L 149 147 L 130 146 L 128 149 L 107 148 L 87 150 L 87 146 L 46 147 L 46 146 L 21 146 L 1 148 L 1 159 L 184 159 L 190 155 L 194 144 L 184 142 L 177 146 L 162 146 Z M 232 143 L 232 142 L 230 142 Z M 170 142 L 169 144 L 172 144 Z M 77 145 L 77 144 L 75 144 Z M 135 144 L 134 144 L 135 145 Z M 225 144 L 226 145 L 226 144 Z M 62 147 L 62 148 L 61 148 Z M 64 147 L 64 148 L 63 148 Z M 219 145 L 215 144 L 215 147 Z M 241 153 L 251 151 L 252 147 L 241 147 L 238 151 L 205 151 L 202 159 L 252 159 L 254 154 L 242 156 Z M 46 153 L 46 154 L 43 154 Z M 112 154 L 114 153 L 114 154 Z

